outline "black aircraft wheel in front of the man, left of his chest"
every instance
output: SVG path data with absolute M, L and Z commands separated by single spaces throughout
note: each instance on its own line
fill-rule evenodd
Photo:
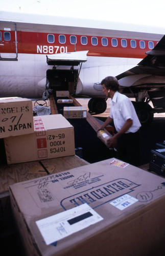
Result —
M 102 98 L 91 98 L 88 101 L 89 113 L 101 114 L 107 108 L 107 102 Z

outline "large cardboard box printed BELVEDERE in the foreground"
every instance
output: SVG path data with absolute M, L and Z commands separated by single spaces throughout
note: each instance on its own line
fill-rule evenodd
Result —
M 28 255 L 164 253 L 165 179 L 120 160 L 11 185 L 10 198 Z

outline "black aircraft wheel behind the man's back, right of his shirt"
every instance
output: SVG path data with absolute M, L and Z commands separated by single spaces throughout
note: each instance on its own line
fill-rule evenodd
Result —
M 151 112 L 152 107 L 147 102 L 132 101 L 132 103 L 142 126 L 150 124 L 154 118 L 154 114 Z

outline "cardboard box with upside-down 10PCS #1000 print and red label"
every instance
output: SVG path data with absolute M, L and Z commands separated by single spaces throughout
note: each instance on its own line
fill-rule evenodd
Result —
M 35 116 L 34 130 L 4 139 L 8 164 L 75 154 L 74 127 L 61 114 Z

